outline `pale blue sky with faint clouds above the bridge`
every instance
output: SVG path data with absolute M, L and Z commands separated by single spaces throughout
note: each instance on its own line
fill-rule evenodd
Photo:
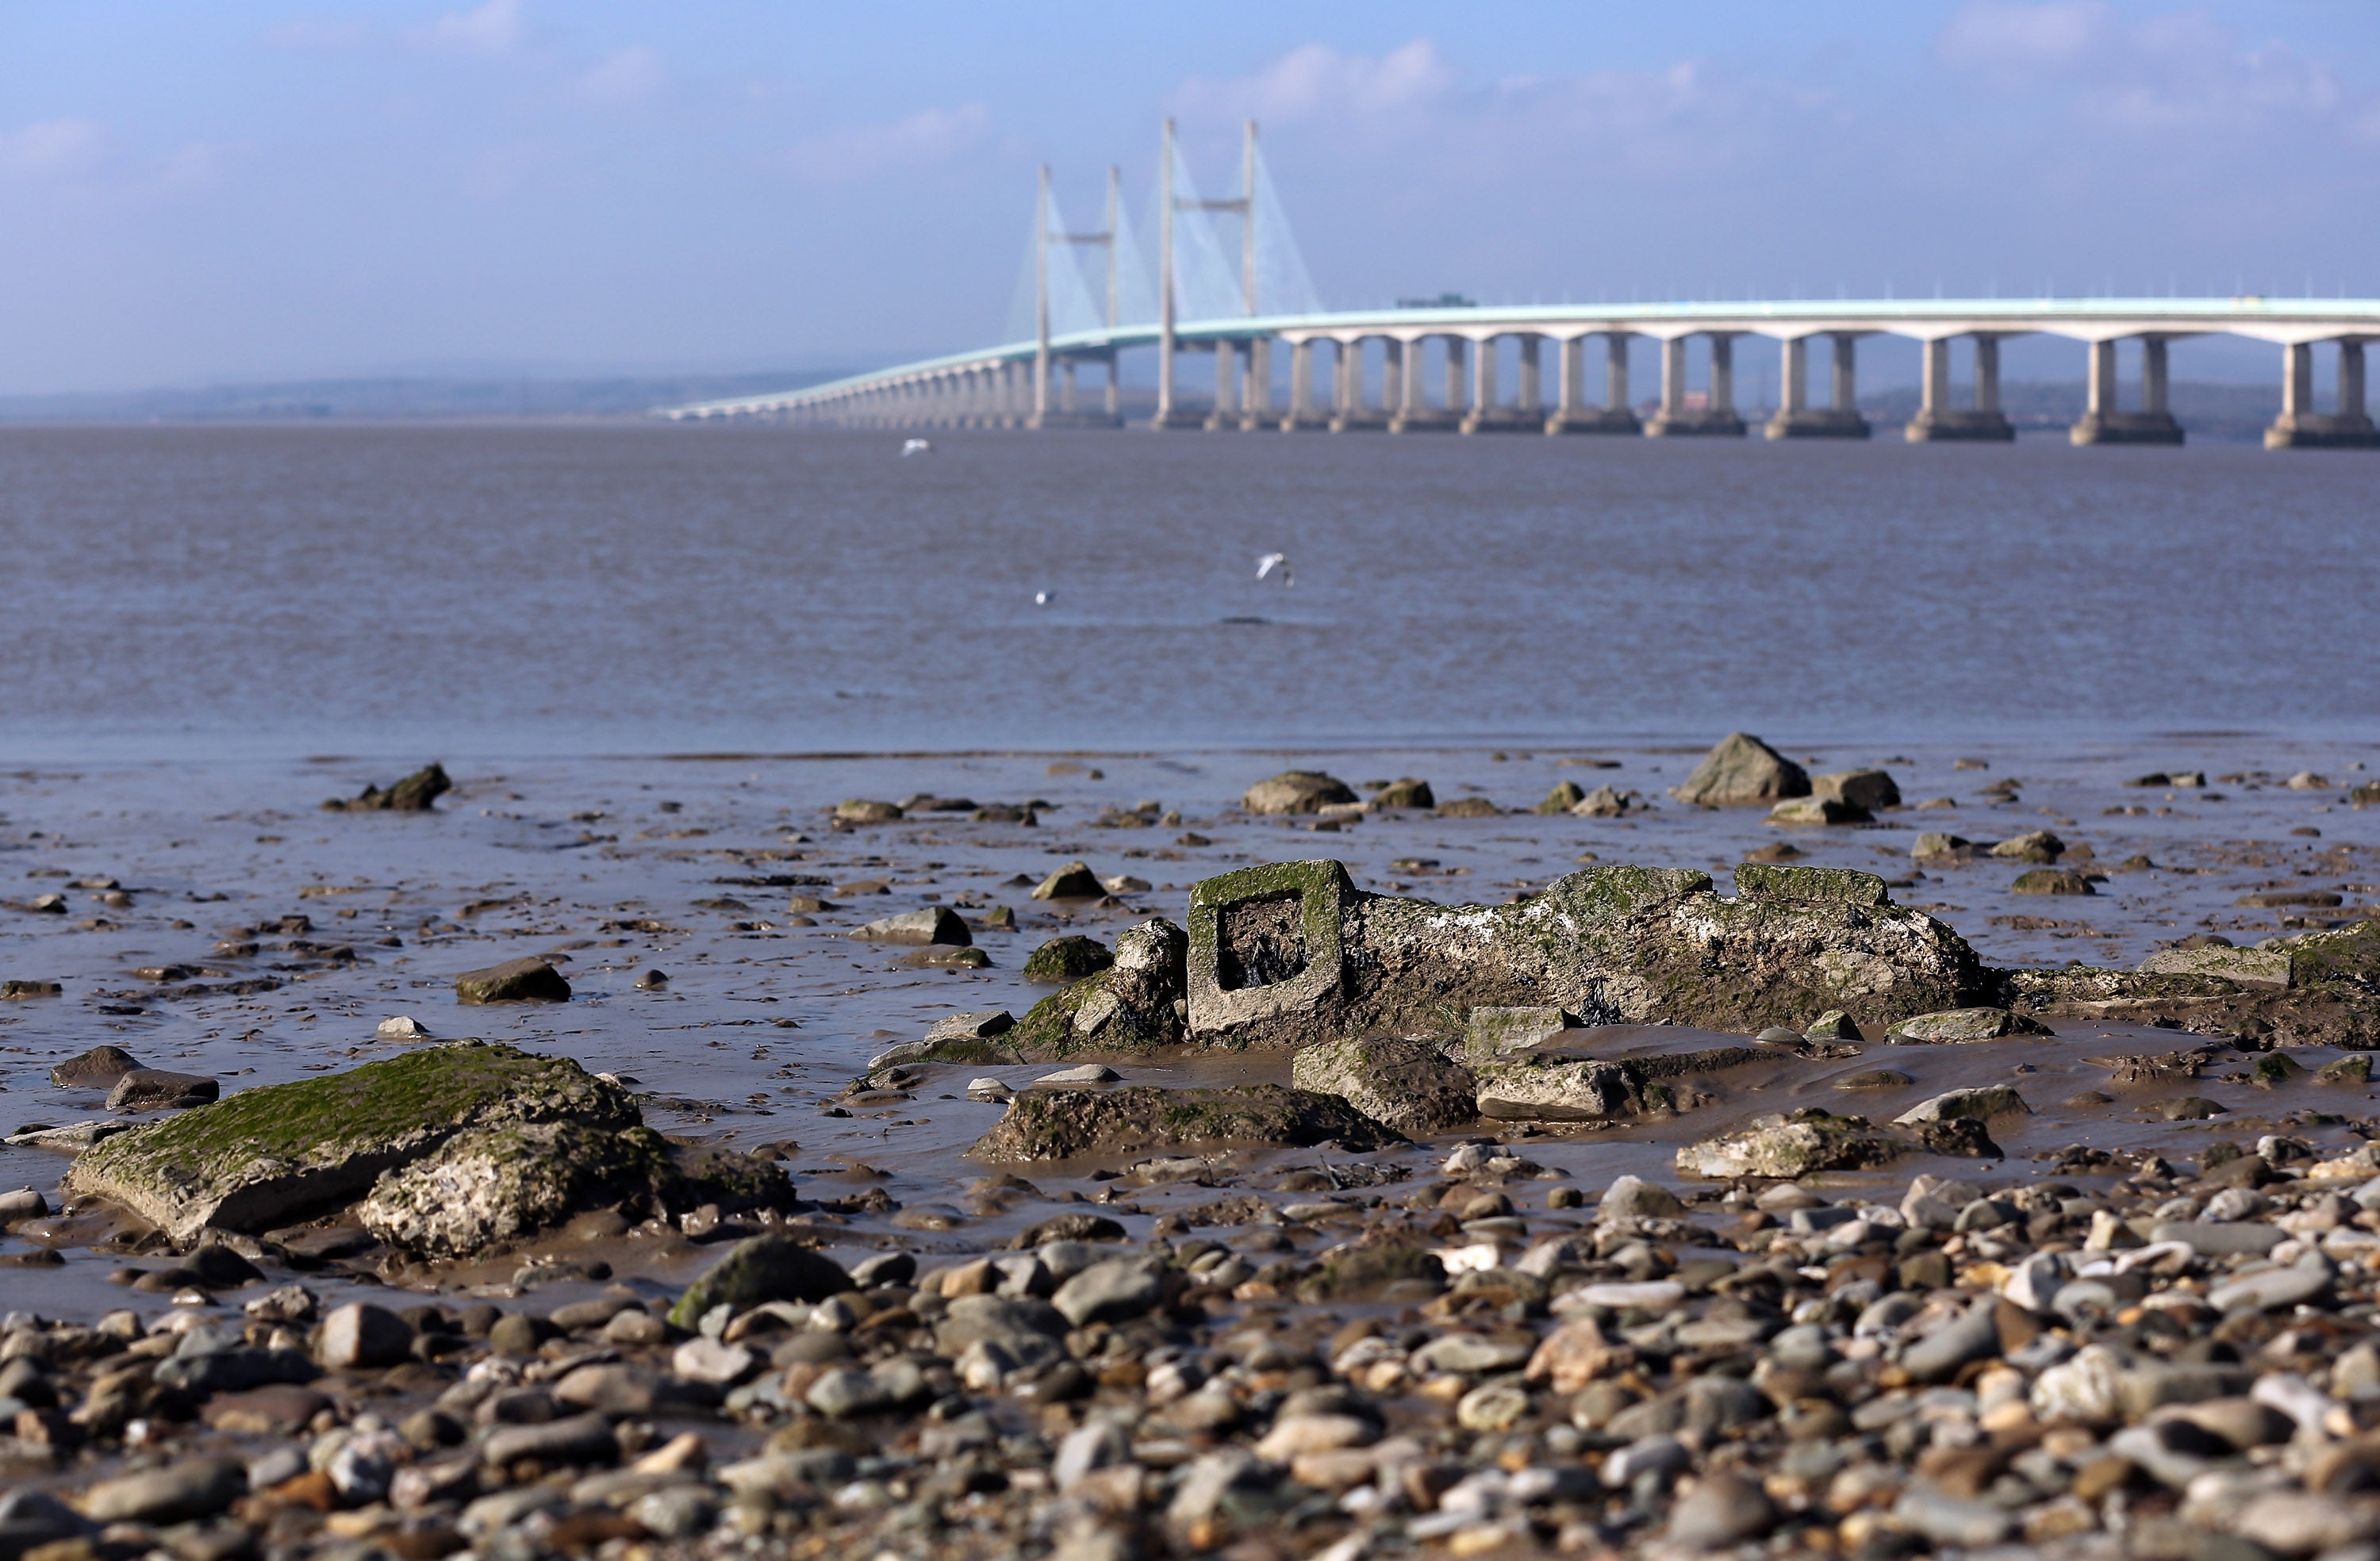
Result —
M 1169 112 L 1335 305 L 2380 295 L 2366 0 L 0 0 L 0 393 L 976 345 Z

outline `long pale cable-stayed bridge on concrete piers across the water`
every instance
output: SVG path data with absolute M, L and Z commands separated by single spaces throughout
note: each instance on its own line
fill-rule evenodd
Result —
M 2168 409 L 2168 343 L 2242 336 L 2280 347 L 2282 409 L 2268 447 L 2380 447 L 2366 409 L 2363 345 L 2380 338 L 2380 300 L 2316 297 L 2037 297 L 2037 300 L 1773 300 L 1664 305 L 1490 305 L 1404 300 L 1390 309 L 1321 307 L 1266 174 L 1250 121 L 1238 193 L 1202 198 L 1166 121 L 1157 188 L 1157 255 L 1142 257 L 1109 169 L 1102 226 L 1069 231 L 1042 169 L 1033 238 L 1009 340 L 976 352 L 778 395 L 666 407 L 671 419 L 769 416 L 878 428 L 1123 426 L 1119 359 L 1157 352 L 1154 428 L 1459 431 L 1745 435 L 1735 357 L 1745 338 L 1778 345 L 1778 409 L 1768 438 L 1868 438 L 1859 414 L 1859 340 L 1923 347 L 1911 440 L 2011 440 L 1999 409 L 1999 343 L 2054 336 L 2085 347 L 2087 407 L 2073 443 L 2180 445 Z M 1630 402 L 1628 345 L 1656 340 L 1661 395 L 1649 416 Z M 1602 338 L 1597 400 L 1587 359 Z M 1504 345 L 1514 376 L 1502 376 Z M 1811 343 L 1825 350 L 1825 395 L 1811 385 Z M 2118 383 L 2118 350 L 2137 343 L 2135 388 Z M 2316 347 L 2335 347 L 2328 409 L 2316 402 Z M 1288 385 L 1276 350 L 1288 350 Z M 1552 347 L 1552 352 L 1547 352 Z M 1952 355 L 1966 359 L 1964 405 Z M 1704 390 L 1687 390 L 1690 352 Z M 1176 395 L 1183 355 L 1211 355 L 1214 397 Z M 1552 359 L 1552 362 L 1549 362 Z M 1435 376 L 1430 369 L 1435 366 Z M 1078 383 L 1092 369 L 1097 405 Z M 1430 395 L 1430 381 L 1440 393 Z M 1547 383 L 1552 381 L 1552 383 Z

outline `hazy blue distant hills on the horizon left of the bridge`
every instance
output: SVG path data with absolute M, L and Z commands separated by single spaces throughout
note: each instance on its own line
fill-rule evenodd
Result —
M 678 374 L 612 378 L 388 376 L 264 385 L 195 385 L 98 395 L 0 395 L 0 421 L 212 421 L 212 419 L 481 419 L 643 416 L 652 407 L 719 395 L 797 390 L 845 371 Z

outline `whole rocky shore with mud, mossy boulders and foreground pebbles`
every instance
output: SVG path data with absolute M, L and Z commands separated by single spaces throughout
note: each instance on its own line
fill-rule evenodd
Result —
M 309 911 L 26 897 L 7 1090 L 74 1109 L 0 1195 L 0 1561 L 2380 1554 L 2363 792 L 1595 764 L 633 840 L 367 776 Z M 2166 833 L 2223 788 L 2263 838 Z M 486 871 L 538 845 L 612 880 Z M 2037 871 L 2121 957 L 1940 897 Z M 217 942 L 64 957 L 133 928 Z

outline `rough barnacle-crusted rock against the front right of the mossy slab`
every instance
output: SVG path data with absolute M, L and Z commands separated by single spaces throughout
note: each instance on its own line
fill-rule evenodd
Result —
M 793 1183 L 769 1161 L 712 1154 L 683 1168 L 652 1128 L 574 1121 L 457 1133 L 428 1159 L 388 1171 L 357 1204 L 364 1230 L 424 1256 L 469 1256 L 552 1228 L 595 1204 L 669 1211 L 783 1206 Z M 735 1171 L 735 1173 L 724 1173 Z

